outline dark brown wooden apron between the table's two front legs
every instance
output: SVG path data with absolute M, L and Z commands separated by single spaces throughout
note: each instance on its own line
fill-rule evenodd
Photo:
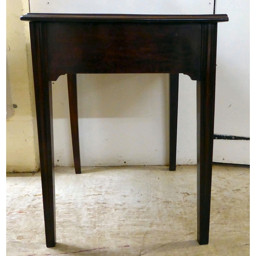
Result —
M 49 80 L 66 73 L 185 73 L 200 79 L 200 24 L 56 22 L 47 23 L 47 34 Z

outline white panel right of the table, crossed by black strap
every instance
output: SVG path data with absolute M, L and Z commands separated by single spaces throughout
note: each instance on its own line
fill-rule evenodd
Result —
M 216 13 L 229 22 L 218 25 L 215 133 L 249 137 L 249 0 L 218 0 Z M 215 143 L 218 161 L 249 164 L 249 141 Z

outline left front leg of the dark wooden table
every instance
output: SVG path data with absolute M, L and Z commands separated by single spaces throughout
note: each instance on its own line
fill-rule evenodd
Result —
M 30 23 L 46 246 L 56 244 L 52 87 L 47 74 L 46 24 Z

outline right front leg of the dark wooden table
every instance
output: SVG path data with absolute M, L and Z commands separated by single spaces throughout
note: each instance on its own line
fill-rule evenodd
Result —
M 197 82 L 197 238 L 209 242 L 214 143 L 217 24 L 202 25 L 201 79 Z

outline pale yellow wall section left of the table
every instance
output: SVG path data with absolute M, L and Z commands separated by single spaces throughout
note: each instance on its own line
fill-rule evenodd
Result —
M 7 173 L 36 172 L 39 152 L 31 65 L 29 23 L 19 17 L 29 12 L 26 0 L 6 2 L 7 80 L 15 114 L 6 121 Z

